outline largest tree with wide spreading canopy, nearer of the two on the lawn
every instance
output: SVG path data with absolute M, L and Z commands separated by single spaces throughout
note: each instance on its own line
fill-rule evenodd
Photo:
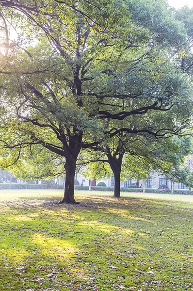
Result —
M 144 24 L 137 17 L 139 6 L 121 0 L 0 3 L 5 31 L 2 154 L 7 166 L 32 146 L 63 157 L 62 202 L 75 203 L 81 148 L 124 133 L 183 134 L 190 125 L 189 79 L 171 59 L 176 47 L 186 44 L 186 29 L 165 3 L 157 4 L 167 23 L 159 27 L 150 25 L 156 7 Z M 11 37 L 10 22 L 17 40 Z M 5 153 L 6 148 L 14 154 Z

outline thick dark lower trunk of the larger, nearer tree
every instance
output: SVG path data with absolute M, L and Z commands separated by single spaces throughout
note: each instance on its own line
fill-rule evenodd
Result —
M 75 204 L 74 199 L 74 179 L 76 170 L 76 159 L 73 156 L 71 159 L 66 159 L 65 162 L 65 185 L 64 185 L 64 198 L 60 203 Z

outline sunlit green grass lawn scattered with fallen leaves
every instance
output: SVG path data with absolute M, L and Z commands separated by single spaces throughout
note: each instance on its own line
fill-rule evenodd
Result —
M 193 290 L 193 195 L 0 190 L 0 291 Z

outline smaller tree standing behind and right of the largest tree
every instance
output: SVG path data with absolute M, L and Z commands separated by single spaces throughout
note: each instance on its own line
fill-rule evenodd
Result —
M 82 159 L 83 173 L 89 179 L 114 176 L 113 197 L 120 197 L 120 181 L 126 179 L 142 180 L 160 173 L 178 182 L 191 180 L 183 164 L 184 157 L 192 152 L 190 136 L 157 140 L 135 134 L 116 139 L 100 145 L 98 151 L 89 149 Z

